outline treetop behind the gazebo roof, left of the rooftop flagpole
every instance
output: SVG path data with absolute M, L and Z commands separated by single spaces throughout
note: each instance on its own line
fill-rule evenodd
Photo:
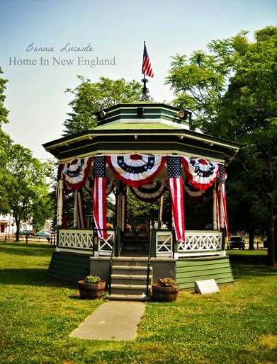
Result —
M 137 81 L 126 82 L 124 79 L 111 80 L 100 77 L 100 81 L 92 83 L 83 76 L 77 76 L 81 84 L 76 89 L 67 89 L 74 99 L 70 101 L 72 113 L 64 121 L 64 135 L 74 134 L 82 130 L 96 127 L 96 115 L 104 108 L 129 103 L 140 99 L 141 85 Z

